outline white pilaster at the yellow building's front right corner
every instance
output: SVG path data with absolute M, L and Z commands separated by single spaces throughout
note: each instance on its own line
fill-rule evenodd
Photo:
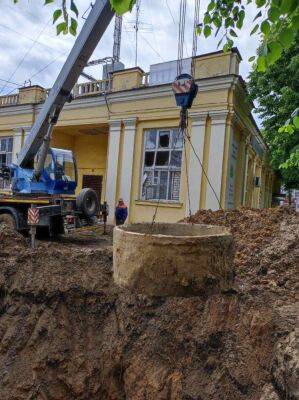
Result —
M 208 177 L 210 183 L 221 201 L 222 170 L 225 150 L 226 118 L 227 111 L 209 112 L 212 119 Z M 206 208 L 219 210 L 219 202 L 211 186 L 207 185 Z

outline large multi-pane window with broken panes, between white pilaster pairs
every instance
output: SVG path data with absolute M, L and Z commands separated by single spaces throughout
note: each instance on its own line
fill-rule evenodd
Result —
M 183 135 L 178 129 L 145 131 L 142 200 L 180 199 Z

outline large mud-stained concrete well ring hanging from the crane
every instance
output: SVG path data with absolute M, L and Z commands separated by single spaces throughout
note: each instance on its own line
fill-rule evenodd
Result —
M 117 226 L 113 232 L 116 284 L 148 296 L 228 289 L 233 257 L 233 237 L 221 226 L 140 223 Z

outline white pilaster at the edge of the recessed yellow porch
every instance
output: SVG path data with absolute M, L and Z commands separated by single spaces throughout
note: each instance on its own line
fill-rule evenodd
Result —
M 106 178 L 106 201 L 110 209 L 108 215 L 108 223 L 110 224 L 114 223 L 120 133 L 121 121 L 110 121 Z

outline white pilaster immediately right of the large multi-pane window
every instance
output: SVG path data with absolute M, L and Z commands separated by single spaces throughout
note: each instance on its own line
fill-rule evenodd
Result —
M 189 201 L 187 198 L 186 215 L 189 215 L 190 211 L 192 214 L 194 214 L 199 209 L 203 172 L 195 153 L 198 155 L 200 161 L 203 163 L 207 113 L 194 113 L 190 114 L 190 116 L 192 118 L 191 143 L 194 147 L 195 152 L 192 148 L 190 148 L 188 178 L 191 210 L 189 209 Z

